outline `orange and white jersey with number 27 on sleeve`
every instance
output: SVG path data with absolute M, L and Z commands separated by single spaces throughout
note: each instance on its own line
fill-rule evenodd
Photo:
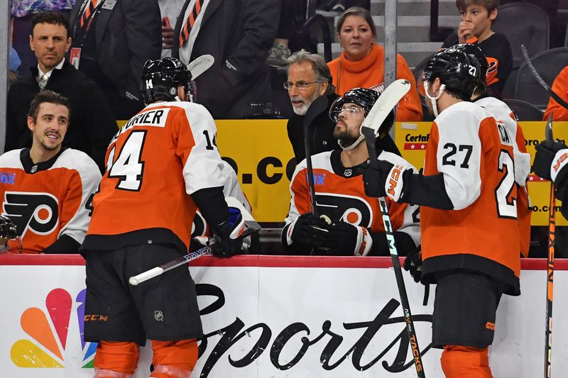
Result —
M 520 294 L 515 140 L 483 108 L 459 102 L 432 124 L 424 174 L 442 173 L 454 210 L 421 206 L 422 272 L 470 269 Z

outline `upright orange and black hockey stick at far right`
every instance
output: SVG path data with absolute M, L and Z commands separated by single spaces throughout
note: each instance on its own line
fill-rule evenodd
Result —
M 546 140 L 552 138 L 552 113 L 548 118 L 545 129 Z M 554 287 L 555 274 L 555 186 L 550 182 L 550 208 L 548 209 L 548 263 L 546 279 L 546 325 L 545 325 L 545 378 L 550 378 L 552 362 L 552 289 Z

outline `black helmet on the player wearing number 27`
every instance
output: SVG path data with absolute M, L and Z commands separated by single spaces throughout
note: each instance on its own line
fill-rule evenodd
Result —
M 479 62 L 475 57 L 463 51 L 447 48 L 437 52 L 426 63 L 420 84 L 439 77 L 450 93 L 469 101 L 478 84 L 479 72 Z

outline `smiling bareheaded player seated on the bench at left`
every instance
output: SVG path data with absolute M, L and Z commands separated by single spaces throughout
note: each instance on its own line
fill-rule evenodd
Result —
M 29 107 L 31 148 L 0 156 L 0 209 L 16 225 L 24 253 L 77 253 L 101 174 L 84 152 L 62 147 L 69 101 L 40 91 Z

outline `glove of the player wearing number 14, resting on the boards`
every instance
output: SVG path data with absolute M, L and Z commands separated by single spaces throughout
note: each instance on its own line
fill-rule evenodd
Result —
M 229 207 L 229 221 L 214 226 L 214 233 L 219 238 L 221 248 L 213 248 L 215 257 L 231 257 L 242 252 L 244 231 L 244 218 L 239 209 Z

